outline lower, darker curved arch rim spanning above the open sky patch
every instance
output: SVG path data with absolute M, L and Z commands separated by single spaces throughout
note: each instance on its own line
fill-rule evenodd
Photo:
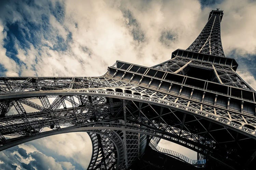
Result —
M 206 147 L 202 143 L 197 143 L 195 141 L 190 141 L 189 139 L 183 139 L 182 137 L 180 138 L 179 136 L 175 136 L 173 134 L 168 134 L 167 132 L 162 132 L 160 130 L 153 130 L 149 126 L 136 126 L 136 125 L 129 125 L 127 124 L 127 128 L 124 128 L 124 124 L 122 123 L 98 123 L 95 122 L 94 124 L 91 124 L 89 126 L 83 126 L 83 127 L 68 127 L 68 128 L 62 128 L 60 131 L 58 130 L 52 130 L 52 131 L 46 131 L 42 132 L 36 136 L 29 136 L 29 137 L 17 137 L 14 138 L 14 141 L 0 147 L 0 151 L 8 149 L 10 147 L 32 141 L 35 139 L 47 137 L 47 136 L 52 136 L 52 135 L 57 135 L 57 134 L 62 134 L 62 133 L 71 133 L 71 132 L 93 132 L 95 133 L 96 131 L 99 130 L 112 130 L 112 131 L 128 131 L 128 132 L 136 132 L 148 136 L 154 136 L 158 137 L 161 139 L 165 139 L 174 143 L 177 143 L 179 145 L 182 145 L 186 148 L 189 148 L 193 151 L 199 152 L 203 154 L 203 150 L 212 150 L 211 147 Z M 98 134 L 100 134 L 98 132 Z M 107 137 L 107 136 L 106 136 Z M 16 141 L 15 141 L 16 139 Z

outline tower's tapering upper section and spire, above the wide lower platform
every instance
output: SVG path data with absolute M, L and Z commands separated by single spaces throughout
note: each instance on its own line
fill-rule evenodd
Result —
M 153 68 L 253 90 L 236 73 L 236 60 L 224 55 L 221 43 L 222 17 L 223 11 L 218 8 L 212 10 L 203 30 L 186 50 L 175 50 L 171 60 Z

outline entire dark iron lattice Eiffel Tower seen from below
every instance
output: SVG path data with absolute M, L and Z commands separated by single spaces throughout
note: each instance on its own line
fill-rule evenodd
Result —
M 88 169 L 252 169 L 256 92 L 223 52 L 222 17 L 212 10 L 186 50 L 153 67 L 116 61 L 100 77 L 1 77 L 0 150 L 87 132 Z M 161 148 L 160 139 L 197 160 Z

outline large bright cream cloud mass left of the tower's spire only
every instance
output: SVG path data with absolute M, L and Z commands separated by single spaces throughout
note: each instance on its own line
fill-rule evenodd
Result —
M 194 6 L 193 11 L 182 10 L 189 6 L 189 2 L 175 7 L 176 12 L 182 11 L 179 12 L 179 17 L 174 15 L 175 11 L 169 10 L 177 5 L 172 2 L 166 4 L 166 2 L 152 1 L 143 11 L 136 7 L 137 4 L 127 3 L 126 1 L 117 4 L 104 1 L 67 1 L 63 24 L 49 12 L 39 11 L 38 13 L 44 12 L 49 16 L 51 28 L 45 30 L 47 32 L 37 33 L 37 36 L 43 40 L 43 44 L 37 47 L 30 45 L 28 49 L 24 49 L 20 46 L 23 42 L 15 42 L 17 57 L 23 62 L 19 68 L 20 75 L 99 76 L 104 74 L 107 66 L 112 65 L 116 60 L 152 66 L 168 60 L 173 50 L 180 46 L 184 48 L 182 45 L 184 42 L 186 46 L 189 45 L 190 41 L 184 38 L 187 35 L 183 33 L 193 32 L 190 26 L 197 20 L 197 15 L 194 13 L 200 11 L 200 4 L 197 1 L 191 1 Z M 35 12 L 35 10 L 37 9 L 30 8 L 30 11 Z M 136 31 L 144 34 L 143 43 L 133 39 L 132 29 L 137 26 L 127 25 L 128 18 L 123 16 L 124 11 L 130 11 L 132 15 L 130 19 L 137 20 Z M 186 21 L 182 19 L 183 17 L 186 17 Z M 23 17 L 18 17 L 17 20 L 24 23 Z M 67 29 L 72 33 L 72 42 L 68 43 L 66 51 L 56 51 L 53 49 L 54 46 L 59 45 L 56 36 L 67 40 Z M 163 46 L 159 41 L 163 31 L 172 31 L 177 38 L 175 43 L 169 41 L 171 48 Z M 48 39 L 45 39 L 45 35 Z M 32 68 L 32 65 L 35 68 Z

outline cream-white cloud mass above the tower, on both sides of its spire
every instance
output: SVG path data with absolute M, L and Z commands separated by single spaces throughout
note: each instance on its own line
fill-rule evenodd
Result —
M 49 6 L 37 3 L 39 6 Z M 17 57 L 23 62 L 17 69 L 8 61 L 10 59 L 5 60 L 7 64 L 4 66 L 9 66 L 6 74 L 20 70 L 22 76 L 99 76 L 115 60 L 153 66 L 168 60 L 171 52 L 177 48 L 186 49 L 200 33 L 210 11 L 208 7 L 202 9 L 196 0 L 186 3 L 66 1 L 65 17 L 60 23 L 48 8 L 38 10 L 22 4 L 30 11 L 37 10 L 37 16 L 30 16 L 31 12 L 25 13 L 32 22 L 43 22 L 40 14 L 44 14 L 49 17 L 50 24 L 48 30 L 37 33 L 42 44 L 23 49 L 16 42 Z M 55 2 L 52 4 L 54 7 Z M 241 54 L 255 54 L 255 25 L 251 22 L 255 20 L 255 16 L 251 15 L 256 7 L 255 2 L 246 1 L 241 5 L 227 0 L 219 7 L 224 9 L 222 39 L 226 54 L 232 50 Z M 127 11 L 131 14 L 130 18 L 125 16 Z M 24 23 L 25 16 L 17 12 L 15 16 L 18 16 L 15 21 Z M 128 24 L 132 21 L 137 25 Z M 143 41 L 134 40 L 134 30 L 143 34 Z M 72 34 L 71 41 L 67 41 L 69 32 Z M 175 37 L 173 40 L 167 39 L 168 46 L 159 40 L 165 32 Z M 62 42 L 67 44 L 65 51 L 54 48 L 59 45 L 57 36 L 67 41 Z

